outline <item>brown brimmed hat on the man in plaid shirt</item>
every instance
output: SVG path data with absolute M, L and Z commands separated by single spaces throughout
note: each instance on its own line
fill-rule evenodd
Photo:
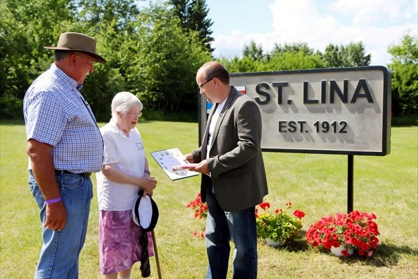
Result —
M 59 36 L 56 47 L 44 47 L 47 50 L 72 50 L 75 52 L 84 52 L 92 56 L 95 61 L 106 63 L 99 54 L 95 53 L 96 40 L 82 33 L 65 32 Z

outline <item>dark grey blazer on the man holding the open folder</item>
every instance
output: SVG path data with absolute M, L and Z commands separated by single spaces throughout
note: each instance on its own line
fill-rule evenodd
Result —
M 217 105 L 216 105 L 217 106 Z M 206 159 L 210 119 L 202 145 L 192 151 L 194 162 Z M 219 205 L 224 211 L 240 211 L 255 206 L 268 194 L 261 153 L 261 114 L 249 96 L 231 86 L 216 123 L 210 146 L 208 167 Z M 202 174 L 201 199 L 206 202 L 206 174 Z

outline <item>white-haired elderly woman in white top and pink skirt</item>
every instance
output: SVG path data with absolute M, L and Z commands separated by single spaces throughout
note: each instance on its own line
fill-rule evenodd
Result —
M 99 199 L 100 273 L 105 278 L 130 278 L 132 265 L 141 260 L 141 228 L 132 220 L 138 191 L 153 195 L 157 181 L 150 177 L 144 144 L 137 126 L 141 101 L 120 92 L 111 102 L 111 120 L 100 128 L 104 160 L 96 175 Z M 153 255 L 148 233 L 148 253 Z

